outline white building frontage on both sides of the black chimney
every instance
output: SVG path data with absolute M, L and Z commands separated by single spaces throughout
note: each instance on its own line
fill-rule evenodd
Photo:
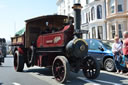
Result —
M 73 16 L 72 6 L 77 0 L 57 0 L 58 15 Z M 83 38 L 106 39 L 104 0 L 79 0 L 83 6 L 81 28 L 87 30 Z

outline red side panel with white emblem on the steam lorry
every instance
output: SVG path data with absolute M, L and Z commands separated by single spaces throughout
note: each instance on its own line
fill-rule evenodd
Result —
M 40 35 L 37 39 L 37 47 L 60 47 L 64 45 L 64 32 L 70 28 L 65 26 L 61 31 Z

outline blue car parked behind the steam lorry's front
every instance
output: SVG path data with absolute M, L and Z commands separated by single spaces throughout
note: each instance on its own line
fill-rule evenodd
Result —
M 112 41 L 101 41 L 97 39 L 86 39 L 88 43 L 88 55 L 99 61 L 101 68 L 114 71 L 115 64 L 112 54 Z

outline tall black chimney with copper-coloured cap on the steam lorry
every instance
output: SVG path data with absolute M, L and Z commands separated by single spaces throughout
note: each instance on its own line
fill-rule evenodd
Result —
M 80 32 L 81 29 L 81 4 L 78 2 L 74 4 L 72 7 L 74 9 L 74 29 L 75 29 L 75 36 L 77 38 L 82 38 L 82 33 Z

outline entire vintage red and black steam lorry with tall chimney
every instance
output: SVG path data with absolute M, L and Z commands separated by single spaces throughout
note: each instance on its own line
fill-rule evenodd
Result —
M 80 4 L 74 4 L 74 20 L 62 15 L 26 20 L 24 34 L 12 38 L 15 70 L 23 71 L 25 63 L 27 67 L 52 68 L 53 76 L 60 83 L 66 82 L 70 71 L 78 73 L 80 69 L 86 78 L 97 78 L 100 74 L 99 64 L 88 56 L 88 44 L 82 39 L 81 8 Z M 74 25 L 64 24 L 67 18 Z M 57 31 L 52 32 L 55 28 L 58 28 Z

